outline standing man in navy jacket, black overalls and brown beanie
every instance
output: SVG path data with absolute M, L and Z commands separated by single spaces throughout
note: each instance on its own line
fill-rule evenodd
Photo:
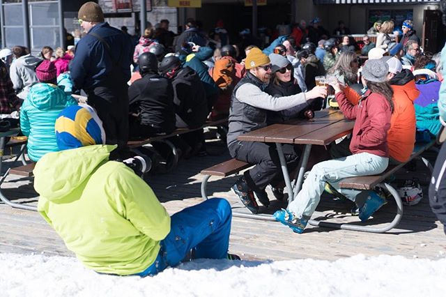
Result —
M 84 89 L 107 133 L 107 144 L 125 148 L 128 141 L 128 80 L 132 41 L 104 21 L 98 3 L 81 6 L 79 24 L 87 33 L 79 40 L 70 75 L 75 89 Z

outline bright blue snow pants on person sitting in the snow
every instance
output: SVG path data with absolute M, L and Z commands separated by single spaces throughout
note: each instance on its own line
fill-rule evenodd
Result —
M 168 266 L 174 267 L 190 250 L 194 259 L 226 259 L 231 218 L 231 205 L 222 198 L 209 199 L 175 213 L 171 216 L 169 234 L 160 241 L 155 262 L 137 275 L 155 275 Z

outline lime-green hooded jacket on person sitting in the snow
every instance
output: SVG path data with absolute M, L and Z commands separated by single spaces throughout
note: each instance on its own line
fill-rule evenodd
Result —
M 153 264 L 170 216 L 152 189 L 122 162 L 116 146 L 47 153 L 34 169 L 38 211 L 88 268 L 130 275 Z

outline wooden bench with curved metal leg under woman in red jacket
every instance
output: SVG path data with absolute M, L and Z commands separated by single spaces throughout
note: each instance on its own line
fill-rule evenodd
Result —
M 399 197 L 397 190 L 395 190 L 389 183 L 386 183 L 385 180 L 392 176 L 392 174 L 397 172 L 399 169 L 401 169 L 401 167 L 406 165 L 408 162 L 416 158 L 420 158 L 424 165 L 429 168 L 429 171 L 433 172 L 433 167 L 431 166 L 429 161 L 426 160 L 426 158 L 423 158 L 421 156 L 421 154 L 431 148 L 435 143 L 435 141 L 432 141 L 429 143 L 416 144 L 414 151 L 412 155 L 410 155 L 410 159 L 407 162 L 401 163 L 399 165 L 390 165 L 382 174 L 376 176 L 356 176 L 344 178 L 339 183 L 340 188 L 355 190 L 373 190 L 377 185 L 379 185 L 380 187 L 388 190 L 397 203 L 397 213 L 392 222 L 390 222 L 389 224 L 379 228 L 348 223 L 337 224 L 332 222 L 322 222 L 318 220 L 309 220 L 309 224 L 319 227 L 329 227 L 352 231 L 365 231 L 371 233 L 384 233 L 385 231 L 389 231 L 390 229 L 397 227 L 397 225 L 401 221 L 401 218 L 403 217 L 403 202 L 401 201 L 401 197 Z

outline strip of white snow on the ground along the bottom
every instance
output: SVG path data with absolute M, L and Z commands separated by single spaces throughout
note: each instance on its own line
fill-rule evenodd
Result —
M 0 254 L 1 296 L 446 296 L 446 259 L 197 260 L 155 277 L 100 275 L 70 257 Z

